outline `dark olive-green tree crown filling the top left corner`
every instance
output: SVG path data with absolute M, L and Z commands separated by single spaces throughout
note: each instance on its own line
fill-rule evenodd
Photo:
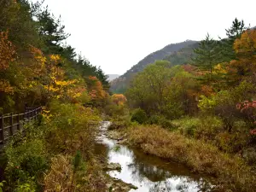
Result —
M 40 44 L 37 22 L 32 19 L 32 4 L 26 0 L 0 1 L 0 29 L 9 31 L 9 40 L 15 44 L 17 52 L 24 53 L 30 44 Z

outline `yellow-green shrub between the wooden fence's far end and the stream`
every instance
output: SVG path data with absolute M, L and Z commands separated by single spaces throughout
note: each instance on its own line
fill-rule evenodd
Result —
M 89 154 L 96 136 L 99 117 L 91 108 L 60 102 L 51 102 L 49 120 L 43 126 L 49 128 L 46 134 L 50 150 L 73 153 L 83 148 L 82 153 Z M 88 152 L 88 153 L 87 153 Z

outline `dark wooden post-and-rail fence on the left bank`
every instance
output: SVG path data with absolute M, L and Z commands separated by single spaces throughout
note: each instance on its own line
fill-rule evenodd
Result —
M 0 116 L 0 145 L 7 143 L 9 138 L 18 131 L 23 131 L 23 126 L 32 120 L 37 120 L 42 112 L 40 108 L 26 108 L 25 113 L 3 114 Z

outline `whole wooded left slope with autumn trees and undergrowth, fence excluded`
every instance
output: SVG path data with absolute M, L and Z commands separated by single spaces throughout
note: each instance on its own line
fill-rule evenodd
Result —
M 44 107 L 39 121 L 22 127 L 26 137 L 18 131 L 8 141 L 3 135 L 12 132 L 3 127 L 16 119 L 9 123 L 1 116 L 0 191 L 106 188 L 96 184 L 105 182 L 95 175 L 90 154 L 108 100 L 108 76 L 66 44 L 69 36 L 61 18 L 41 3 L 0 1 L 0 113 Z M 60 172 L 66 172 L 65 180 Z

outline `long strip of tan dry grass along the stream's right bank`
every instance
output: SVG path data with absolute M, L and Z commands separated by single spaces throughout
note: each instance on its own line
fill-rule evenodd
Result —
M 225 188 L 236 191 L 253 191 L 255 173 L 238 156 L 224 154 L 210 144 L 193 140 L 159 126 L 131 127 L 129 141 L 148 154 L 177 160 L 195 172 L 215 176 Z

